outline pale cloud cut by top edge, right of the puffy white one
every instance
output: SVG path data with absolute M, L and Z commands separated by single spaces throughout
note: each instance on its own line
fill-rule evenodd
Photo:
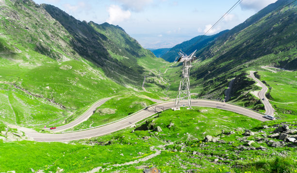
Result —
M 122 3 L 122 7 L 125 10 L 131 10 L 134 12 L 143 11 L 145 7 L 153 2 L 153 0 L 115 0 Z

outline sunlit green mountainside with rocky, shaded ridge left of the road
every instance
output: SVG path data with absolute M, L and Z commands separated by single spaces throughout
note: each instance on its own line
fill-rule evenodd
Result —
M 146 94 L 127 87 L 141 88 L 147 70 L 168 64 L 118 26 L 80 22 L 45 7 L 0 1 L 0 121 L 63 124 L 101 98 Z

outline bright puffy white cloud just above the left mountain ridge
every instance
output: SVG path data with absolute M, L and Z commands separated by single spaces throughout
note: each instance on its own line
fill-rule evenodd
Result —
M 122 10 L 121 7 L 117 5 L 111 5 L 108 7 L 107 12 L 109 14 L 109 18 L 106 22 L 109 24 L 119 23 L 131 17 L 131 12 L 129 10 Z

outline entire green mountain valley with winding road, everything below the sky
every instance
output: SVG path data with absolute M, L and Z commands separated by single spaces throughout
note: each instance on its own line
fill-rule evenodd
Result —
M 154 55 L 119 26 L 0 0 L 0 172 L 296 172 L 296 9 Z M 193 107 L 173 111 L 175 59 L 196 49 Z

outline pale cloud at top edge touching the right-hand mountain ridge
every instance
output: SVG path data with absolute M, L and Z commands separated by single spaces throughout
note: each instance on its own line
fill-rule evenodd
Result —
M 240 3 L 240 7 L 243 10 L 259 11 L 267 5 L 276 2 L 277 0 L 243 0 Z

